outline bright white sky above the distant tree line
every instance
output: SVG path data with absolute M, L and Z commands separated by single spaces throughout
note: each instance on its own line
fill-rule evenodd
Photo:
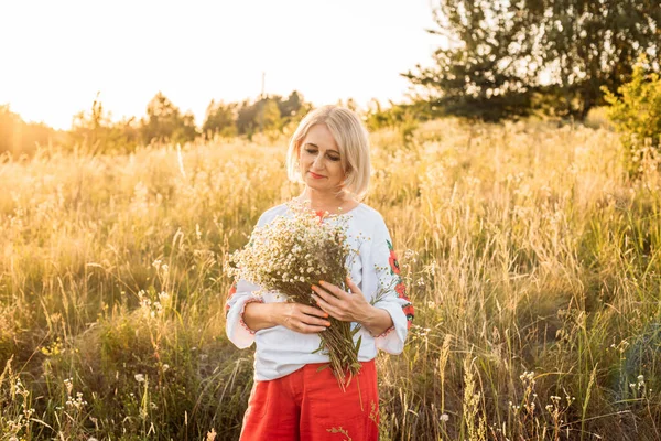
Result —
M 430 0 L 0 0 L 0 104 L 68 129 L 97 92 L 113 119 L 162 90 L 198 123 L 212 98 L 296 89 L 315 105 L 402 100 L 440 37 Z

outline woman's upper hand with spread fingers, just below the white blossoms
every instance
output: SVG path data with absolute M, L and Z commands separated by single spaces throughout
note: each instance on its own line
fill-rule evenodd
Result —
M 347 277 L 346 282 L 350 293 L 324 281 L 321 281 L 318 286 L 313 284 L 312 290 L 316 293 L 316 295 L 313 294 L 313 299 L 322 310 L 337 320 L 358 323 L 368 321 L 373 315 L 376 308 L 368 303 L 351 279 Z

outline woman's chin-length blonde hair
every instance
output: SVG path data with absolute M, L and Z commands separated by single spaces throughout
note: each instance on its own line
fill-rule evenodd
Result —
M 344 107 L 323 106 L 303 118 L 286 151 L 286 174 L 292 182 L 303 182 L 299 170 L 301 144 L 314 125 L 324 123 L 339 148 L 339 160 L 345 172 L 344 189 L 361 201 L 367 194 L 371 164 L 369 137 L 358 116 Z

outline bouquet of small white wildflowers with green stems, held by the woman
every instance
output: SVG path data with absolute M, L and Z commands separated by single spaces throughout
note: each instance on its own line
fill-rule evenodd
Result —
M 260 286 L 264 292 L 278 291 L 288 301 L 316 306 L 312 284 L 325 280 L 344 287 L 349 275 L 347 265 L 356 251 L 347 241 L 347 218 L 313 212 L 300 203 L 291 202 L 289 206 L 292 217 L 280 216 L 257 227 L 248 245 L 230 256 L 236 267 L 229 272 Z M 317 351 L 328 355 L 329 366 L 344 388 L 360 369 L 360 338 L 354 343 L 360 326 L 351 330 L 349 322 L 333 316 L 328 320 L 330 326 L 318 333 L 322 342 Z

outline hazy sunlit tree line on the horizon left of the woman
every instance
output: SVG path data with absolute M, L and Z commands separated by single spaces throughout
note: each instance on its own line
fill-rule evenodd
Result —
M 312 109 L 301 93 L 294 90 L 286 98 L 279 95 L 257 100 L 224 103 L 212 100 L 201 128 L 195 116 L 182 110 L 159 92 L 147 105 L 143 118 L 123 118 L 112 121 L 111 115 L 97 98 L 91 108 L 73 118 L 71 130 L 55 130 L 44 123 L 25 122 L 11 111 L 9 105 L 0 106 L 0 153 L 31 154 L 36 146 L 56 143 L 83 147 L 88 151 L 129 152 L 138 146 L 174 142 L 184 143 L 196 138 L 216 136 L 251 138 L 256 132 L 282 133 Z

